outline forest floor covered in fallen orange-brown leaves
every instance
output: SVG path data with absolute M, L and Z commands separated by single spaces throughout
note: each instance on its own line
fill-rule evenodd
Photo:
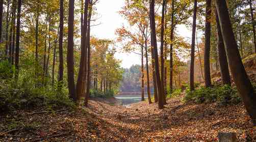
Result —
M 18 111 L 0 116 L 0 141 L 217 141 L 219 131 L 256 139 L 242 103 L 184 104 L 181 98 L 168 99 L 161 111 L 146 101 L 125 108 L 114 98 L 54 113 Z

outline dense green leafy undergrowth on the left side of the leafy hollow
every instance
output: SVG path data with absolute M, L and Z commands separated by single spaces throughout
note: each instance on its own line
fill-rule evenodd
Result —
M 46 109 L 57 110 L 63 107 L 74 108 L 65 88 L 57 86 L 35 85 L 34 73 L 20 70 L 19 79 L 13 77 L 13 66 L 0 62 L 0 112 L 9 113 L 14 110 Z

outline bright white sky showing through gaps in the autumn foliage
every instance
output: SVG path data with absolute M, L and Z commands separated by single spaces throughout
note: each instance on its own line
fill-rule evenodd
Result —
M 128 25 L 127 21 L 118 14 L 123 6 L 124 0 L 111 0 L 111 4 L 108 0 L 99 0 L 95 5 L 98 13 L 96 24 L 99 25 L 92 27 L 92 35 L 99 39 L 115 40 L 117 38 L 115 30 L 122 25 Z M 177 33 L 185 39 L 190 39 L 192 34 L 185 25 L 177 25 Z M 122 60 L 122 67 L 129 68 L 133 64 L 141 64 L 141 57 L 138 54 L 122 53 L 120 52 L 121 48 L 120 44 L 116 46 L 119 51 L 116 53 L 116 58 Z

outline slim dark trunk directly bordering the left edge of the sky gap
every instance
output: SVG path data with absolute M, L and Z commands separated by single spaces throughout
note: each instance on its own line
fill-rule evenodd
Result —
M 91 73 L 91 68 L 90 68 L 90 30 L 91 30 L 91 14 L 92 14 L 92 3 L 89 2 L 89 12 L 88 12 L 88 28 L 87 28 L 87 87 L 86 87 L 86 97 L 85 97 L 85 106 L 88 107 L 88 99 L 90 97 L 90 73 Z M 84 19 L 85 20 L 85 19 Z

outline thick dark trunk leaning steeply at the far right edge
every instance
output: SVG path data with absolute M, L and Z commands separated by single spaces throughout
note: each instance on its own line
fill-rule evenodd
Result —
M 256 93 L 251 85 L 251 82 L 246 74 L 242 63 L 235 35 L 232 29 L 231 20 L 226 6 L 226 1 L 215 1 L 217 13 L 219 16 L 221 33 L 227 51 L 229 67 L 238 92 L 244 102 L 245 108 L 252 119 L 253 125 L 256 126 Z

